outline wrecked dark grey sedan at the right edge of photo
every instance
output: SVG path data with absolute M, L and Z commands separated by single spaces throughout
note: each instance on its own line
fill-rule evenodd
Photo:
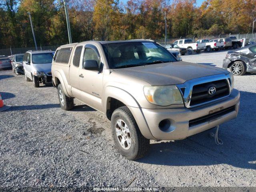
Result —
M 229 68 L 234 75 L 256 73 L 256 44 L 229 51 L 223 60 L 223 68 Z

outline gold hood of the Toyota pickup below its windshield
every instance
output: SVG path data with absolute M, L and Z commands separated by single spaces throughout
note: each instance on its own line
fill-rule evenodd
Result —
M 183 84 L 194 78 L 229 73 L 222 68 L 183 61 L 113 70 L 118 73 L 144 80 L 152 86 Z

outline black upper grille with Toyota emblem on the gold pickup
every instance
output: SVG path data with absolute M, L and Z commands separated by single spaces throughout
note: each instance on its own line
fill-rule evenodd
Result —
M 210 87 L 216 88 L 216 92 L 212 95 L 208 93 Z M 229 85 L 226 79 L 195 85 L 192 90 L 190 106 L 228 96 L 229 92 Z

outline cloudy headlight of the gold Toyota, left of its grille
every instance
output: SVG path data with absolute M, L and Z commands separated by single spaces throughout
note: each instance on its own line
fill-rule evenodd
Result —
M 168 106 L 172 104 L 183 104 L 180 90 L 175 85 L 170 86 L 144 86 L 144 95 L 148 102 Z

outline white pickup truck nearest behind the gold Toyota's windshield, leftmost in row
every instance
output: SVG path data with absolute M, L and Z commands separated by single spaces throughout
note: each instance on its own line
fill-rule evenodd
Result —
M 192 54 L 193 51 L 200 53 L 206 47 L 205 43 L 193 43 L 192 39 L 181 39 L 174 41 L 173 44 L 177 44 L 179 47 L 188 49 L 188 54 Z

